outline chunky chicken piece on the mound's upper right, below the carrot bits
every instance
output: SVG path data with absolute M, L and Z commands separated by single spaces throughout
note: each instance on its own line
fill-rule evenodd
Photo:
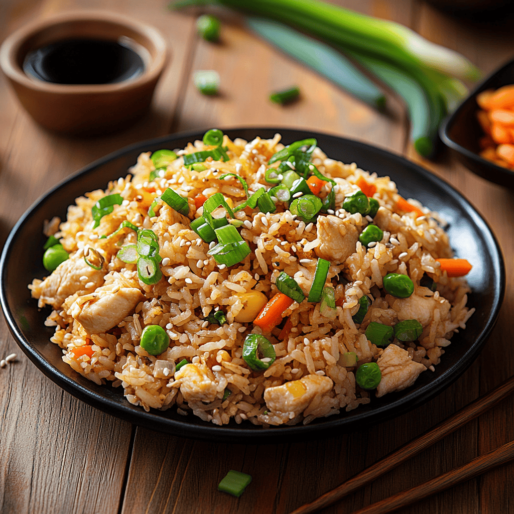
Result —
M 321 243 L 315 250 L 318 257 L 337 265 L 355 252 L 359 231 L 351 221 L 337 216 L 319 216 L 316 226 Z

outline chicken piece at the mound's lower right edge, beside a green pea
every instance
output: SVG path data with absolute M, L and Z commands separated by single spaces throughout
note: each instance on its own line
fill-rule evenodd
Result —
M 419 362 L 414 362 L 409 352 L 396 344 L 390 344 L 377 360 L 382 378 L 377 387 L 377 397 L 393 391 L 402 391 L 416 381 L 416 378 L 426 368 Z

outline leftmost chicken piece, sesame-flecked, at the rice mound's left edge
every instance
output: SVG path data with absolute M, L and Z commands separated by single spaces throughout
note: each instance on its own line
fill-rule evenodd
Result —
M 38 287 L 38 293 L 32 290 L 32 297 L 39 298 L 39 307 L 51 305 L 58 309 L 64 300 L 77 293 L 79 296 L 94 291 L 103 284 L 107 270 L 91 268 L 82 257 L 71 257 L 59 264 Z M 82 279 L 82 280 L 81 280 Z M 89 286 L 86 288 L 86 285 Z

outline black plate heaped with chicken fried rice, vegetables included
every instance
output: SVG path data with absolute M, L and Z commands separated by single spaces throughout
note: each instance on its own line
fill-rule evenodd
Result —
M 42 196 L 2 254 L 25 354 L 140 426 L 245 442 L 352 431 L 454 382 L 497 319 L 501 250 L 408 160 L 332 135 L 170 135 Z

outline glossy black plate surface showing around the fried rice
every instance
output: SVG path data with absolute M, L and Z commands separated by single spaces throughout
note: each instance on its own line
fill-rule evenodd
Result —
M 242 128 L 226 131 L 231 138 L 247 140 L 256 135 L 271 138 L 276 132 L 282 134 L 284 143 L 316 137 L 320 148 L 330 157 L 343 162 L 355 161 L 365 170 L 389 175 L 404 197 L 418 198 L 424 205 L 439 211 L 449 222 L 448 233 L 456 254 L 473 264 L 468 276 L 473 289 L 469 305 L 475 306 L 476 312 L 466 330 L 453 337 L 435 373 L 423 373 L 413 387 L 383 398 L 373 398 L 370 405 L 360 406 L 349 413 L 316 419 L 306 426 L 263 429 L 250 423 L 217 427 L 194 416 L 180 416 L 173 408 L 164 412 L 145 412 L 128 403 L 120 389 L 97 386 L 63 363 L 61 349 L 49 342 L 53 329 L 44 325 L 49 312 L 47 309 L 38 310 L 26 287 L 34 277 L 42 278 L 47 274 L 41 263 L 46 239 L 41 233 L 43 220 L 54 215 L 64 219 L 67 206 L 74 203 L 77 196 L 93 189 L 104 189 L 108 180 L 125 174 L 140 152 L 183 148 L 189 141 L 201 139 L 203 133 L 145 141 L 108 155 L 49 191 L 22 216 L 2 254 L 1 299 L 9 328 L 29 359 L 65 391 L 109 414 L 153 430 L 233 443 L 277 443 L 367 427 L 421 405 L 456 380 L 479 354 L 503 299 L 503 259 L 486 222 L 465 198 L 445 182 L 412 162 L 373 146 L 298 130 Z

